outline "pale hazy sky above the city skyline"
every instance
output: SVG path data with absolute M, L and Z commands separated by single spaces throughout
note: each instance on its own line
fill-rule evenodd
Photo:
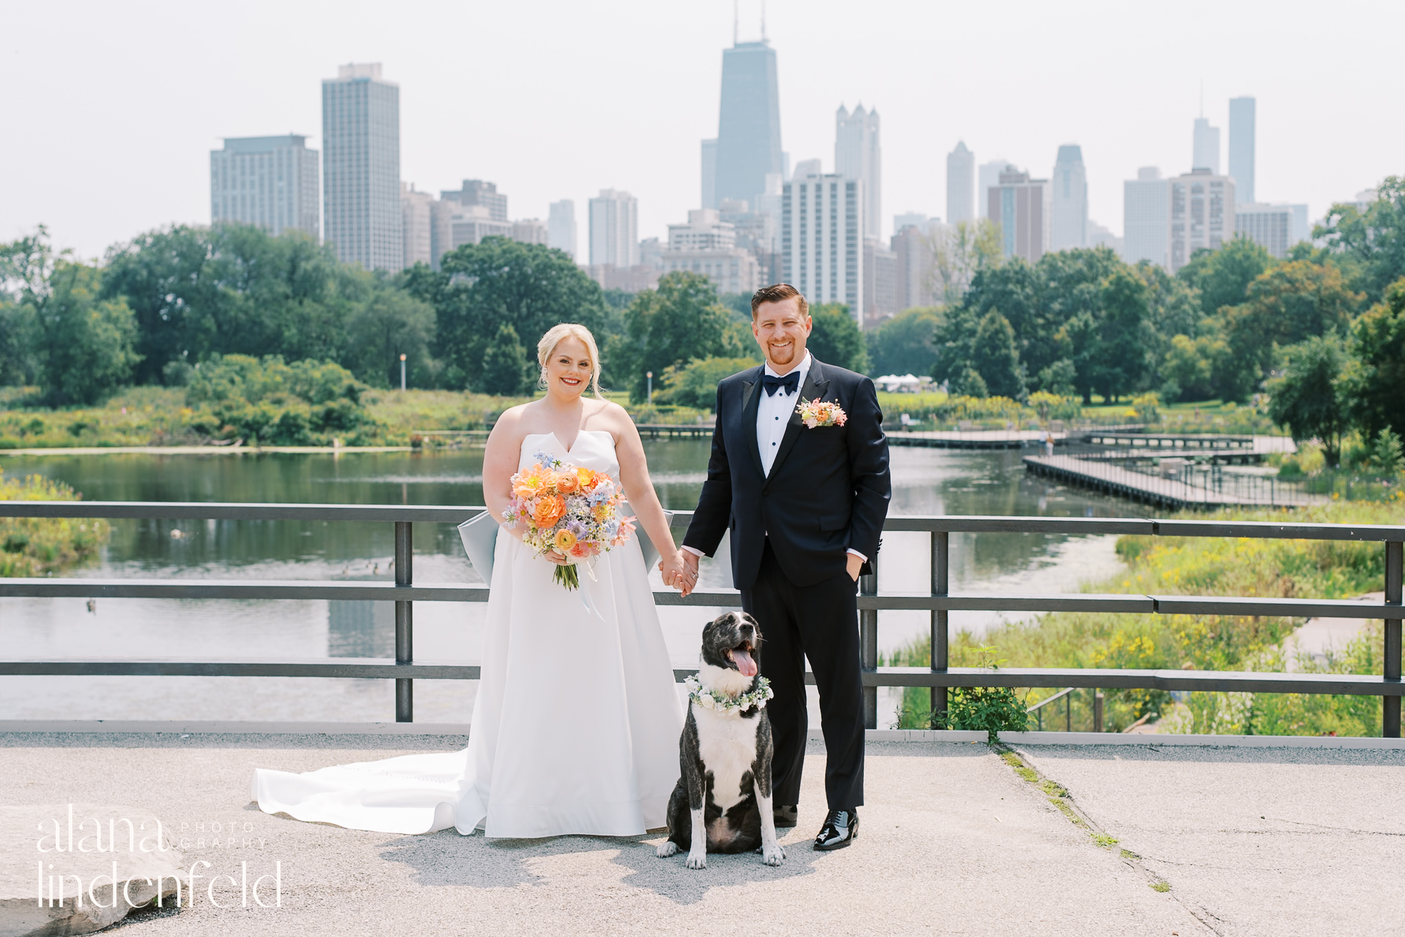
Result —
M 740 10 L 756 38 L 759 0 Z M 1398 0 L 771 0 L 766 15 L 791 164 L 830 170 L 836 107 L 878 108 L 885 233 L 896 212 L 946 214 L 958 139 L 1040 177 L 1082 145 L 1089 215 L 1121 233 L 1123 180 L 1190 169 L 1201 86 L 1222 148 L 1228 98 L 1257 97 L 1260 201 L 1316 218 L 1405 173 Z M 4 20 L 0 239 L 42 222 L 89 257 L 208 223 L 222 136 L 320 149 L 320 79 L 346 62 L 399 83 L 400 171 L 420 190 L 490 180 L 514 218 L 573 198 L 584 246 L 586 199 L 624 188 L 641 237 L 663 236 L 698 205 L 732 42 L 728 0 L 105 0 Z

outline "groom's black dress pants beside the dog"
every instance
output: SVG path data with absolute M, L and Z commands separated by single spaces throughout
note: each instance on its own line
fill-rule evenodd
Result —
M 864 694 L 858 659 L 857 583 L 840 573 L 815 586 L 795 586 L 781 572 L 767 538 L 762 569 L 742 590 L 742 608 L 762 625 L 762 676 L 776 697 L 766 705 L 776 739 L 774 802 L 799 804 L 809 721 L 805 659 L 819 690 L 825 732 L 825 795 L 829 809 L 864 802 Z

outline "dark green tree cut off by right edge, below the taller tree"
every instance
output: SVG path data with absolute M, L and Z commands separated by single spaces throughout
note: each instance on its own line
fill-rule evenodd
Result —
M 1385 289 L 1352 329 L 1352 416 L 1368 435 L 1405 435 L 1405 277 Z

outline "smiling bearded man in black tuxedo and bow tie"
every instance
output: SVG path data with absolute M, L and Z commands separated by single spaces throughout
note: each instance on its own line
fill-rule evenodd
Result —
M 762 673 L 776 691 L 769 712 L 777 826 L 797 822 L 809 657 L 829 798 L 815 848 L 833 850 L 857 836 L 864 802 L 856 583 L 873 572 L 891 486 L 873 381 L 816 361 L 805 350 L 809 333 L 809 303 L 794 287 L 752 296 L 752 334 L 766 364 L 717 388 L 712 457 L 683 551 L 695 583 L 698 556 L 711 556 L 732 531 L 732 579 L 742 608 L 762 624 Z M 816 399 L 837 405 L 843 419 L 808 427 L 795 409 Z

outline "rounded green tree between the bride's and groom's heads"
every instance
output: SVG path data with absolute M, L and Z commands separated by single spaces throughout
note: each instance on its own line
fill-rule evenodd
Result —
M 629 399 L 648 396 L 646 372 L 662 382 L 663 374 L 697 358 L 736 358 L 745 353 L 732 316 L 718 302 L 708 277 L 670 273 L 658 289 L 645 289 L 625 310 L 625 334 L 613 341 L 608 358 L 615 374 L 625 375 Z

